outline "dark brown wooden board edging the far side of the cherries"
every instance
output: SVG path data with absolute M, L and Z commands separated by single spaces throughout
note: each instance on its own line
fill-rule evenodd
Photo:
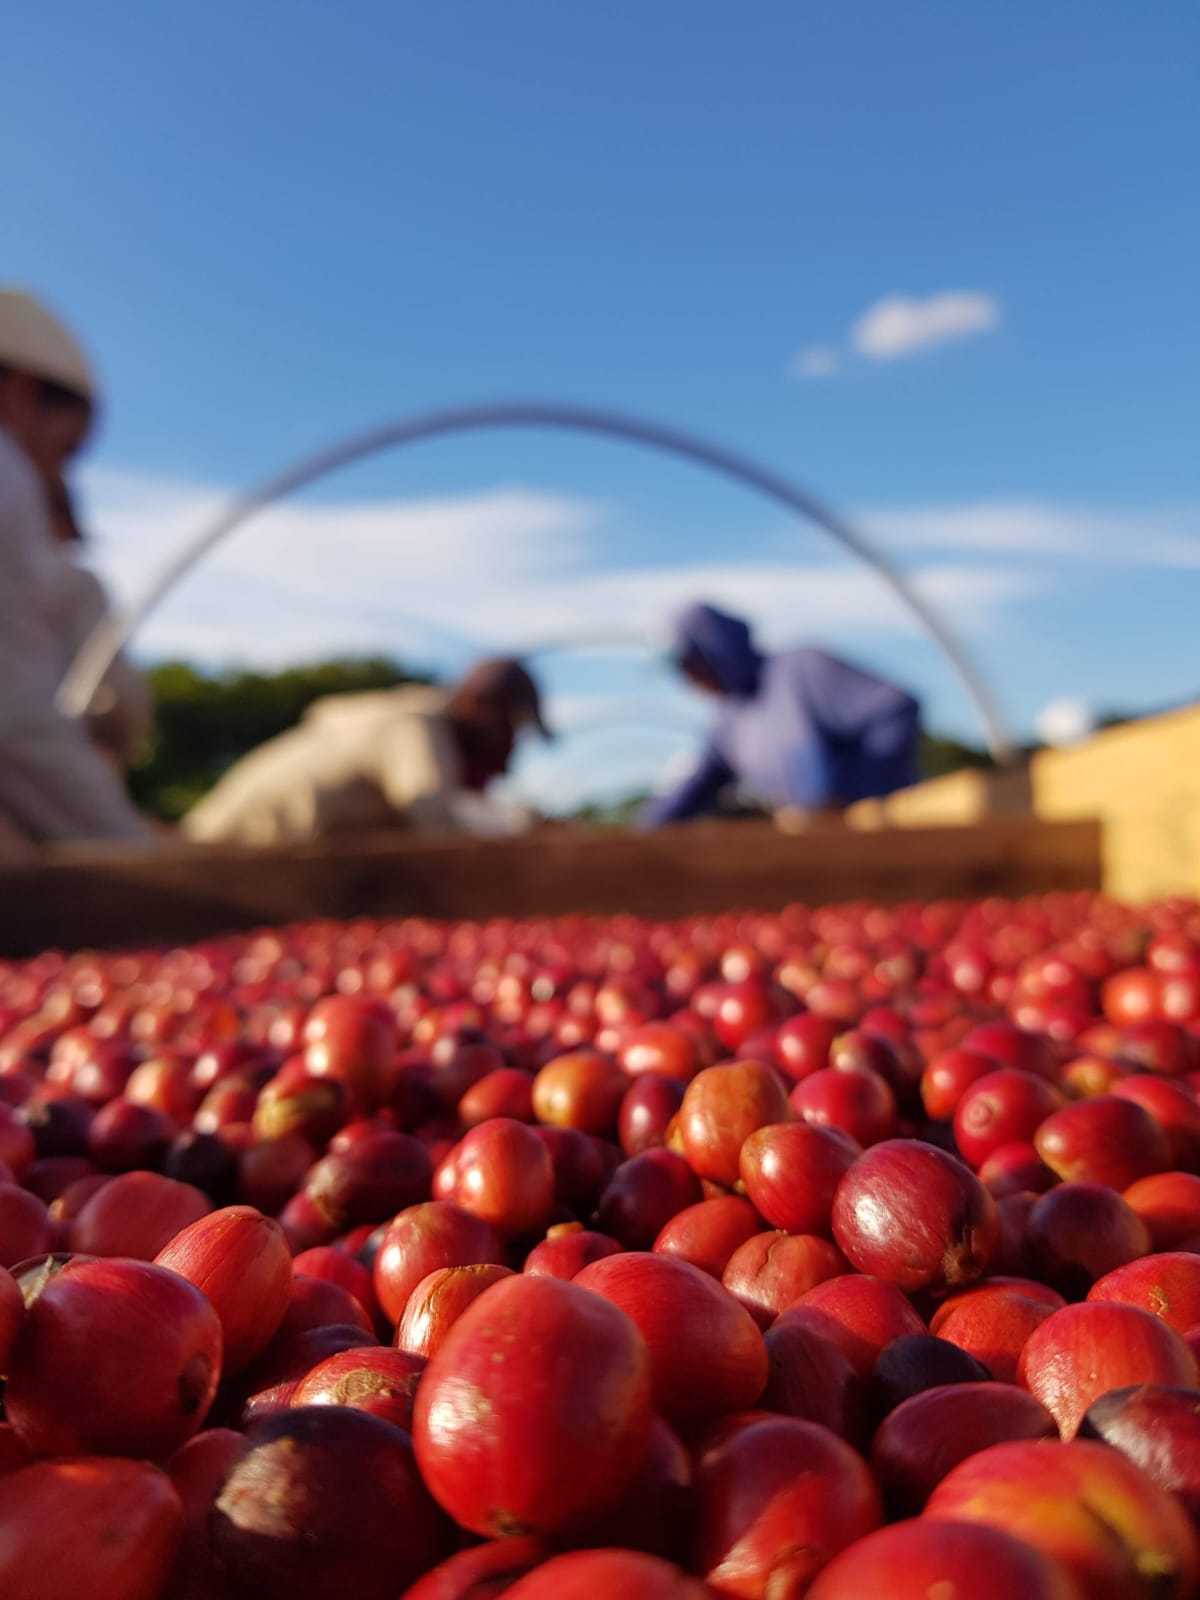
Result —
M 624 910 L 669 918 L 778 910 L 792 901 L 968 899 L 1099 883 L 1093 821 L 800 837 L 725 822 L 648 835 L 547 829 L 504 843 L 373 834 L 278 851 L 70 850 L 0 869 L 0 955 L 192 941 L 314 917 Z

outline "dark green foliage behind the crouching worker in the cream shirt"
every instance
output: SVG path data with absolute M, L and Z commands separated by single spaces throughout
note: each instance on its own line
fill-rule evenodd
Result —
M 315 699 L 429 682 L 381 658 L 214 674 L 186 661 L 165 661 L 147 677 L 155 731 L 130 774 L 130 787 L 142 810 L 168 822 L 178 821 L 234 762 L 293 728 Z

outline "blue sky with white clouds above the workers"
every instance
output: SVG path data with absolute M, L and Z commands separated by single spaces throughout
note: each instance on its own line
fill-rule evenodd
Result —
M 1064 696 L 1195 691 L 1192 3 L 22 13 L 0 259 L 104 373 L 86 504 L 122 597 L 227 493 L 341 434 L 574 398 L 712 435 L 856 517 L 1018 731 Z M 333 480 L 181 586 L 141 645 L 453 666 L 645 629 L 698 587 L 971 731 L 936 653 L 818 534 L 533 432 Z M 579 725 L 525 765 L 549 798 L 642 781 L 702 717 L 645 656 L 544 667 Z

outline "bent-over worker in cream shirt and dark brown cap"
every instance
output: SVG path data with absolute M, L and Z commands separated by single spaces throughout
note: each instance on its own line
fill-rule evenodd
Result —
M 549 738 L 538 685 L 517 661 L 478 662 L 453 690 L 330 694 L 251 750 L 182 821 L 189 838 L 290 845 L 347 829 L 504 835 L 530 816 L 485 790 L 523 726 Z

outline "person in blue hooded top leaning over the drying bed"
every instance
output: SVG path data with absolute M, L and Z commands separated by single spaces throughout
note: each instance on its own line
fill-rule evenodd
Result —
M 643 826 L 712 814 L 731 787 L 811 816 L 917 781 L 912 694 L 824 650 L 766 656 L 746 622 L 710 605 L 688 606 L 672 634 L 678 669 L 720 712 L 691 776 L 646 806 Z

